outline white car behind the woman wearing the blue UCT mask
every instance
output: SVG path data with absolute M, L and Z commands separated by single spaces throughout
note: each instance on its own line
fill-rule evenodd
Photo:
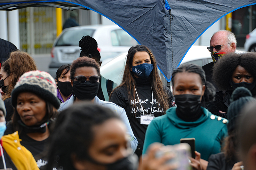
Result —
M 108 63 L 100 67 L 100 74 L 106 79 L 116 82 L 118 85 L 122 81 L 124 74 L 124 66 L 127 52 L 115 57 Z M 199 66 L 204 66 L 212 62 L 211 53 L 208 51 L 207 46 L 193 45 L 186 56 L 183 58 L 181 64 L 194 63 Z M 160 71 L 158 70 L 160 73 Z M 160 73 L 162 80 L 164 76 Z

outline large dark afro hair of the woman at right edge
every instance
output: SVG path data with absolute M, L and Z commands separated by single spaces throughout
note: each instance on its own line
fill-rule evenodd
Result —
M 242 66 L 256 78 L 256 53 L 228 53 L 222 57 L 212 69 L 212 80 L 222 90 L 232 90 L 230 86 L 231 76 L 237 66 Z M 256 95 L 256 86 L 252 89 L 252 95 Z

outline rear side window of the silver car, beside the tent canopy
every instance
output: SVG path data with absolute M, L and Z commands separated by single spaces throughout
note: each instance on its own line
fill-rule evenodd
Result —
M 137 45 L 135 41 L 128 33 L 123 29 L 116 29 L 111 31 L 111 41 L 113 46 L 133 46 Z

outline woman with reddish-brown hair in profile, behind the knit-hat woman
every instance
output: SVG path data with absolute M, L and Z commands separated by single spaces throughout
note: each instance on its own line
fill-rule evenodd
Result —
M 6 121 L 11 120 L 13 114 L 13 107 L 11 105 L 11 93 L 14 89 L 19 77 L 28 72 L 36 70 L 35 60 L 23 51 L 13 51 L 2 65 L 0 70 L 0 86 L 2 88 L 1 94 L 6 108 Z

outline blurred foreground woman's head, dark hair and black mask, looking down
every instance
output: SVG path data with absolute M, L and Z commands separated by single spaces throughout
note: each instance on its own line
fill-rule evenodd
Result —
M 119 116 L 108 108 L 80 103 L 60 112 L 51 138 L 48 168 L 133 170 Z

